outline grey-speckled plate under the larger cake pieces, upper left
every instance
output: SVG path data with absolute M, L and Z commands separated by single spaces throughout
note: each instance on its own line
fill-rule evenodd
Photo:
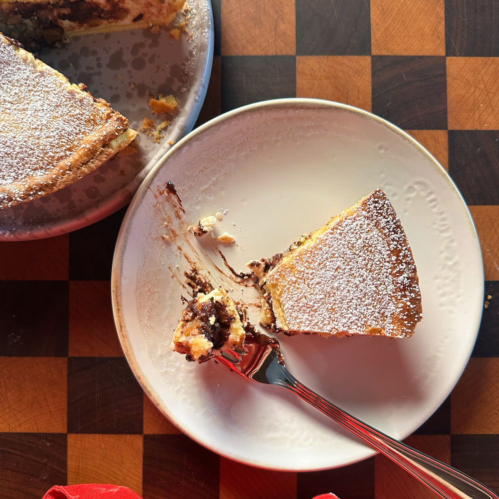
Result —
M 72 38 L 63 49 L 46 49 L 40 58 L 84 82 L 94 96 L 107 100 L 135 130 L 143 118 L 172 123 L 155 143 L 139 132 L 138 154 L 113 158 L 96 171 L 59 192 L 0 211 L 0 241 L 57 236 L 90 225 L 130 202 L 158 160 L 189 133 L 203 105 L 213 61 L 213 17 L 210 0 L 188 0 L 187 32 L 178 40 L 170 27 L 158 33 L 129 30 Z M 185 17 L 179 14 L 179 20 Z M 173 94 L 180 112 L 158 116 L 149 95 Z

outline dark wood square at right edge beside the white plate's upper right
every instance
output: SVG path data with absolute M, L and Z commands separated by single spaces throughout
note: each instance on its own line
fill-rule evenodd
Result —
M 499 205 L 498 164 L 499 131 L 449 130 L 449 174 L 467 204 Z

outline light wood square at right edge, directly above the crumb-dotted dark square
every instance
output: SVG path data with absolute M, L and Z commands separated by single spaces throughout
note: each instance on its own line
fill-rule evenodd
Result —
M 499 280 L 499 206 L 470 206 L 478 233 L 486 280 Z

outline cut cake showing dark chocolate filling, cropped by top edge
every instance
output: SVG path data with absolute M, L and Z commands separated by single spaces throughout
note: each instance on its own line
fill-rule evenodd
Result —
M 53 44 L 65 36 L 167 25 L 184 4 L 185 0 L 0 0 L 0 30 L 25 44 Z

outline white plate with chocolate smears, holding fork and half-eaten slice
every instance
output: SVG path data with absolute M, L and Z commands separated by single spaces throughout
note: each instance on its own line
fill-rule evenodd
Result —
M 237 272 L 383 188 L 419 271 L 424 318 L 414 336 L 279 336 L 281 348 L 298 379 L 399 439 L 449 395 L 476 339 L 484 283 L 477 235 L 456 187 L 422 146 L 376 116 L 327 101 L 268 101 L 222 115 L 172 148 L 137 192 L 118 238 L 113 302 L 125 355 L 185 433 L 221 455 L 276 470 L 333 468 L 373 455 L 286 390 L 169 350 L 187 291 L 182 251 L 162 238 L 165 222 L 176 223 L 161 195 L 168 181 L 189 222 L 224 214 L 215 233 L 235 236 L 236 245 L 219 248 Z M 214 285 L 228 285 L 207 238 L 189 241 L 213 261 Z M 255 301 L 253 288 L 232 288 L 236 298 Z M 257 310 L 250 313 L 257 323 Z

